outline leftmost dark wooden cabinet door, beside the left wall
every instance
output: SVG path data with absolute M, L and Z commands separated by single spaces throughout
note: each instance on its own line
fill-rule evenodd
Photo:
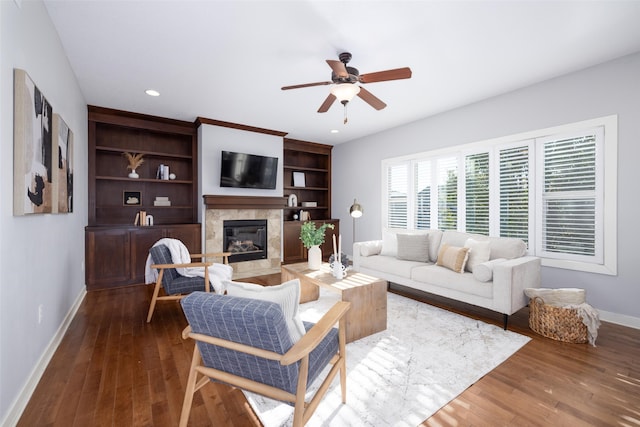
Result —
M 126 285 L 131 277 L 129 230 L 100 229 L 85 233 L 87 290 Z

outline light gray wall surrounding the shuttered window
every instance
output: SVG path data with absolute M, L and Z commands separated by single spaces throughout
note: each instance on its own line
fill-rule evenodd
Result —
M 584 288 L 588 302 L 601 310 L 603 319 L 640 327 L 638 76 L 640 53 L 337 145 L 332 203 L 334 216 L 342 220 L 343 238 L 351 240 L 348 209 L 354 197 L 365 209 L 356 220 L 356 240 L 381 238 L 381 161 L 385 158 L 617 114 L 618 275 L 543 267 L 542 285 Z

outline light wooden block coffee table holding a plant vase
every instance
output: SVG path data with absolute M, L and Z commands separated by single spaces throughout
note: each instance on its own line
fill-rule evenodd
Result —
M 306 262 L 285 264 L 282 281 L 300 279 L 300 303 L 317 300 L 320 287 L 340 294 L 349 301 L 347 313 L 347 342 L 387 329 L 387 281 L 349 270 L 347 277 L 338 280 L 331 274 L 329 264 L 320 270 L 309 270 Z

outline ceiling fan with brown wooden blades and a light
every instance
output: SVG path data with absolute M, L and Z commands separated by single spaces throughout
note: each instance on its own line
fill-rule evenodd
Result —
M 339 61 L 327 59 L 327 64 L 329 64 L 329 67 L 331 67 L 332 70 L 331 81 L 284 86 L 282 90 L 335 84 L 335 86 L 331 88 L 331 93 L 329 94 L 329 96 L 327 96 L 322 105 L 320 105 L 318 113 L 327 112 L 334 101 L 338 99 L 340 103 L 345 106 L 344 122 L 346 123 L 347 103 L 351 101 L 356 95 L 358 95 L 363 101 L 371 105 L 376 110 L 382 110 L 387 106 L 387 104 L 382 102 L 379 98 L 377 98 L 375 95 L 373 95 L 371 92 L 357 83 L 367 84 L 389 80 L 408 79 L 411 77 L 411 69 L 409 67 L 396 68 L 393 70 L 378 71 L 375 73 L 367 73 L 361 75 L 357 68 L 347 66 L 347 64 L 351 60 L 351 54 L 349 52 L 341 53 L 340 55 L 338 55 L 338 58 L 340 59 Z

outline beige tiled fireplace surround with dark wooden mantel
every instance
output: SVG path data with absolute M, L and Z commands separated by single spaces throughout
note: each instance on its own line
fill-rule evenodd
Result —
M 233 278 L 280 273 L 285 197 L 204 196 L 205 252 L 222 252 L 225 220 L 266 219 L 267 259 L 232 263 Z

